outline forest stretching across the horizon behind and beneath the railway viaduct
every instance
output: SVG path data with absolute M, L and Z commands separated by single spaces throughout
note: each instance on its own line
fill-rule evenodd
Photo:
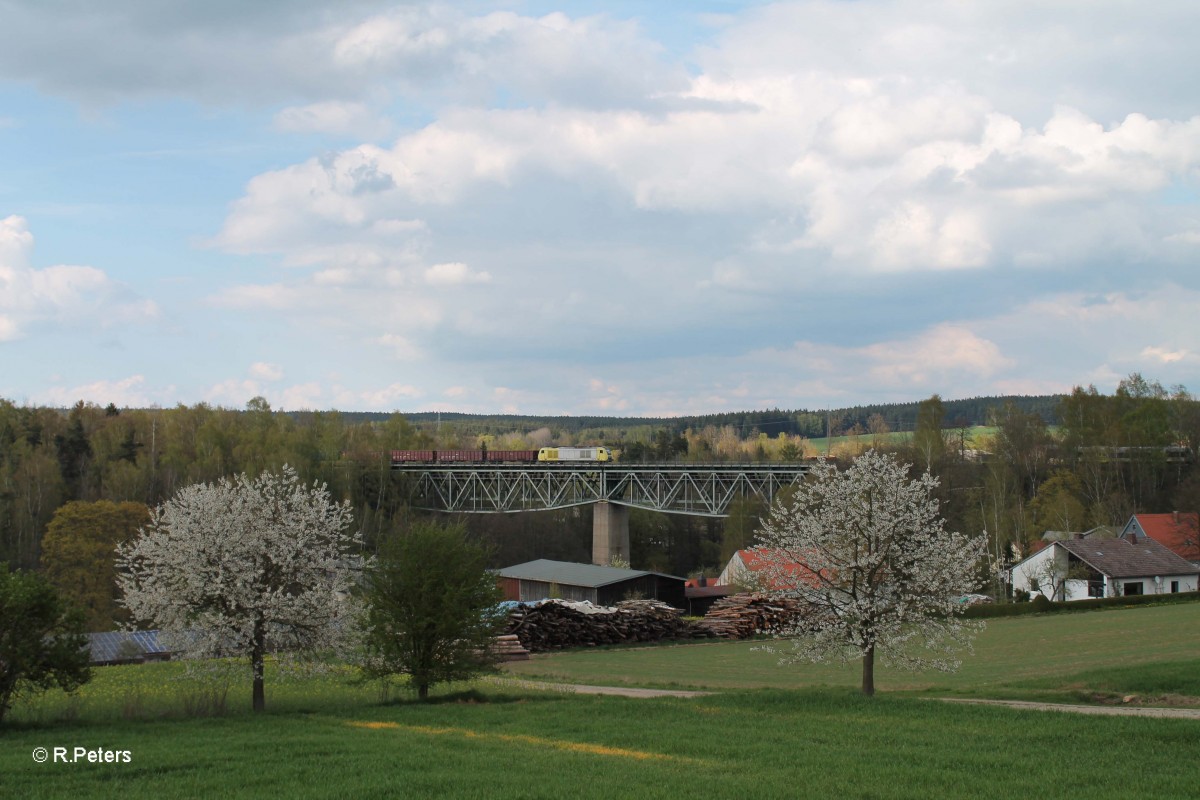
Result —
M 841 437 L 835 446 L 815 441 L 827 431 Z M 89 575 L 80 561 L 103 563 L 149 509 L 178 489 L 283 464 L 348 500 L 367 546 L 377 548 L 421 513 L 408 506 L 409 479 L 390 469 L 392 449 L 602 444 L 626 462 L 784 462 L 846 461 L 874 447 L 898 452 L 913 473 L 940 480 L 948 529 L 988 531 L 990 566 L 980 581 L 998 591 L 997 570 L 1045 530 L 1082 531 L 1121 525 L 1135 512 L 1200 509 L 1198 439 L 1200 403 L 1186 387 L 1164 389 L 1140 374 L 1112 395 L 1093 386 L 1057 397 L 935 395 L 908 404 L 662 420 L 281 413 L 262 398 L 244 409 L 59 409 L 0 399 L 0 561 L 78 585 Z M 108 522 L 97 522 L 104 516 L 97 510 L 112 511 Z M 726 519 L 635 510 L 631 564 L 714 576 L 752 542 L 763 513 L 750 501 Z M 590 559 L 588 509 L 468 515 L 463 522 L 491 548 L 493 566 Z M 104 531 L 91 533 L 85 546 L 79 531 L 89 525 Z M 112 625 L 112 610 L 101 604 L 95 624 Z

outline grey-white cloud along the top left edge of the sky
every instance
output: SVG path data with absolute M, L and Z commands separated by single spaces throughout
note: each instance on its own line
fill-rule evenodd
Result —
M 473 17 L 446 4 L 384 0 L 341 4 L 336 14 L 302 1 L 179 5 L 8 4 L 0 77 L 89 103 L 302 98 L 308 110 L 280 121 L 311 130 L 344 115 L 325 104 L 353 108 L 380 94 L 469 102 L 504 88 L 602 103 L 644 97 L 683 76 L 636 24 L 608 17 Z

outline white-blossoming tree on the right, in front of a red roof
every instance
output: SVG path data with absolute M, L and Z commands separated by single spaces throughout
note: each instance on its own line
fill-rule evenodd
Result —
M 979 624 L 962 620 L 983 537 L 944 530 L 928 473 L 868 451 L 846 471 L 818 467 L 758 531 L 757 588 L 792 599 L 784 661 L 862 658 L 875 693 L 875 656 L 908 669 L 956 669 Z

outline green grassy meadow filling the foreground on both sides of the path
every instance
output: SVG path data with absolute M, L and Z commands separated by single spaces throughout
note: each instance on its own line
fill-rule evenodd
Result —
M 6 796 L 1195 796 L 1200 721 L 934 698 L 1200 706 L 1200 603 L 991 620 L 954 674 L 779 666 L 762 642 L 539 655 L 504 676 L 383 699 L 348 670 L 223 699 L 178 663 L 106 667 L 16 708 Z M 630 698 L 528 680 L 707 690 Z M 128 753 L 37 763 L 31 753 Z

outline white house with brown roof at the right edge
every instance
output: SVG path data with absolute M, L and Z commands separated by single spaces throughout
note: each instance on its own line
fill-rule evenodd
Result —
M 1200 569 L 1146 536 L 1051 542 L 1012 570 L 1013 589 L 1070 601 L 1196 591 Z

